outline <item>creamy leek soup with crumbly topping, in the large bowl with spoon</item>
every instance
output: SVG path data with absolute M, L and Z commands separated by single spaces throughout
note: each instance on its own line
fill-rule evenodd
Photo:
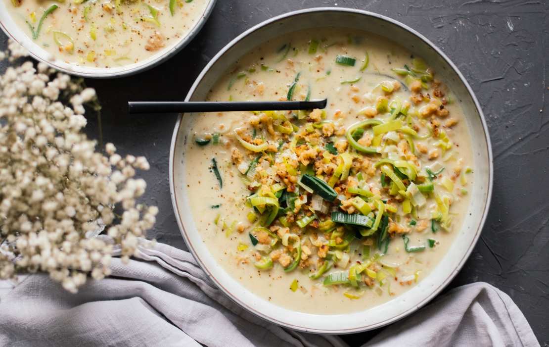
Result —
M 324 110 L 191 114 L 187 194 L 203 242 L 251 292 L 318 314 L 413 287 L 468 207 L 471 148 L 429 61 L 323 29 L 245 55 L 208 100 L 328 98 Z

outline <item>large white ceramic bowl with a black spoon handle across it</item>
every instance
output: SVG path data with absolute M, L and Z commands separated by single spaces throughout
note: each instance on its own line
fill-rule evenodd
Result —
M 170 153 L 170 188 L 173 208 L 181 233 L 193 255 L 208 276 L 231 299 L 257 316 L 285 327 L 313 333 L 354 333 L 378 328 L 411 314 L 427 304 L 455 277 L 473 250 L 482 230 L 492 191 L 492 153 L 488 128 L 473 91 L 462 74 L 440 49 L 420 33 L 393 19 L 355 9 L 315 8 L 299 10 L 265 21 L 242 35 L 219 52 L 204 68 L 186 100 L 204 100 L 209 89 L 227 66 L 252 48 L 274 37 L 311 27 L 348 27 L 376 33 L 390 38 L 413 53 L 425 58 L 438 76 L 451 86 L 456 99 L 462 103 L 472 141 L 475 180 L 470 189 L 471 203 L 461 230 L 456 230 L 455 241 L 439 265 L 417 286 L 385 304 L 339 315 L 313 315 L 295 312 L 261 299 L 244 288 L 216 264 L 201 239 L 192 218 L 190 204 L 193 199 L 186 193 L 186 169 L 183 143 L 186 141 L 191 117 L 180 117 L 173 132 Z

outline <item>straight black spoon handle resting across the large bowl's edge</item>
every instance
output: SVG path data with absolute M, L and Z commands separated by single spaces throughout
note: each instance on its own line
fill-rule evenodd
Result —
M 225 112 L 225 111 L 286 111 L 326 108 L 328 100 L 312 101 L 129 101 L 129 113 L 186 113 L 186 112 Z

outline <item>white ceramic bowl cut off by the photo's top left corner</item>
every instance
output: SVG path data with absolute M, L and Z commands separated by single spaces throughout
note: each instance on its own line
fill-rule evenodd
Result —
M 38 61 L 43 61 L 49 66 L 52 66 L 52 68 L 75 76 L 89 77 L 92 79 L 111 79 L 115 77 L 130 76 L 137 74 L 137 72 L 148 70 L 163 61 L 170 59 L 177 52 L 181 51 L 181 49 L 187 46 L 187 44 L 191 42 L 194 36 L 196 36 L 200 31 L 210 16 L 211 10 L 214 8 L 215 1 L 216 0 L 208 0 L 204 13 L 196 21 L 194 27 L 192 27 L 187 35 L 181 37 L 180 41 L 178 41 L 174 46 L 163 49 L 147 59 L 138 61 L 138 63 L 111 68 L 92 68 L 89 66 L 79 66 L 66 63 L 65 61 L 52 59 L 51 54 L 46 52 L 42 47 L 38 46 L 38 44 L 36 44 L 27 35 L 27 33 L 25 33 L 19 25 L 15 23 L 12 16 L 8 13 L 8 9 L 6 8 L 6 4 L 3 0 L 0 0 L 0 27 L 4 31 L 5 35 L 25 47 L 33 58 Z

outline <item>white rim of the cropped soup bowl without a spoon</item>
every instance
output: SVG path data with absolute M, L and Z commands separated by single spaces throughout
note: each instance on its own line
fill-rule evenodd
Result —
M 194 24 L 192 29 L 187 33 L 186 36 L 183 36 L 181 41 L 177 42 L 175 46 L 166 49 L 164 52 L 158 55 L 158 57 L 154 58 L 153 60 L 150 60 L 148 62 L 140 61 L 138 63 L 134 63 L 131 65 L 126 66 L 133 66 L 132 68 L 124 69 L 125 66 L 120 66 L 119 71 L 115 72 L 109 72 L 108 70 L 112 68 L 89 68 L 87 66 L 80 66 L 70 63 L 64 63 L 64 65 L 70 66 L 71 68 L 65 68 L 64 66 L 60 66 L 54 61 L 51 61 L 49 59 L 43 59 L 39 55 L 35 54 L 33 52 L 33 49 L 29 49 L 29 47 L 26 47 L 25 44 L 21 43 L 15 36 L 8 30 L 8 27 L 5 26 L 2 20 L 0 20 L 0 29 L 5 33 L 6 36 L 11 38 L 13 41 L 19 43 L 21 46 L 25 47 L 27 51 L 29 52 L 29 55 L 34 58 L 37 61 L 40 61 L 42 63 L 47 64 L 51 68 L 54 68 L 56 70 L 59 70 L 61 72 L 64 72 L 65 74 L 69 74 L 72 76 L 79 76 L 79 77 L 87 77 L 91 79 L 112 79 L 112 78 L 118 78 L 118 77 L 126 77 L 126 76 L 132 76 L 135 74 L 138 74 L 139 72 L 147 71 L 149 69 L 154 68 L 155 66 L 160 65 L 166 60 L 169 60 L 173 57 L 176 53 L 181 51 L 184 47 L 189 44 L 195 36 L 197 36 L 198 32 L 202 29 L 204 24 L 206 23 L 206 20 L 208 20 L 212 10 L 214 9 L 215 3 L 217 0 L 208 0 L 208 4 L 206 5 L 206 8 L 204 12 L 200 15 L 200 19 L 197 21 L 197 23 Z M 9 16 L 9 14 L 8 14 Z M 26 34 L 25 34 L 26 35 Z M 37 47 L 38 45 L 36 43 L 32 44 L 33 48 Z M 80 71 L 80 69 L 82 69 Z M 97 70 L 97 72 L 92 72 L 93 70 Z

